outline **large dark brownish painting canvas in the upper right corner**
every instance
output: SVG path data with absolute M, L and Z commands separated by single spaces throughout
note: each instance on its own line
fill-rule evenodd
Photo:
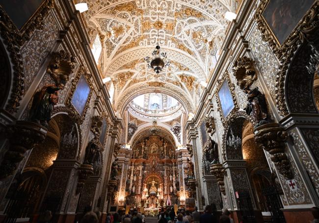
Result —
M 315 0 L 269 0 L 263 17 L 282 45 Z

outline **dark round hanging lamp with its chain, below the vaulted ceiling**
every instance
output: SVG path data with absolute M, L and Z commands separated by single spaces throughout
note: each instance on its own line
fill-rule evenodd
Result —
M 158 23 L 160 23 L 160 17 L 158 19 Z M 155 50 L 152 52 L 152 58 L 150 56 L 147 56 L 144 58 L 144 60 L 147 62 L 148 67 L 152 68 L 156 74 L 159 74 L 163 67 L 169 66 L 169 60 L 167 60 L 166 52 L 160 52 L 160 44 L 159 44 L 159 27 L 157 30 L 157 46 L 155 47 Z

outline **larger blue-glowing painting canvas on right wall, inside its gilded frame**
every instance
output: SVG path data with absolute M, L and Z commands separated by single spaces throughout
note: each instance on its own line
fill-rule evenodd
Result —
M 223 85 L 221 85 L 221 88 L 219 89 L 218 97 L 221 104 L 221 110 L 225 118 L 235 107 L 232 94 L 230 93 L 228 83 L 226 80 L 224 80 Z

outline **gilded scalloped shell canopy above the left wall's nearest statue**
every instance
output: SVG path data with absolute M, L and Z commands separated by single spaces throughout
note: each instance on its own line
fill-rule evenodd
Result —
M 52 52 L 52 59 L 48 65 L 47 73 L 51 75 L 55 84 L 64 83 L 69 80 L 69 75 L 73 73 L 75 68 L 75 59 L 69 52 L 60 50 Z

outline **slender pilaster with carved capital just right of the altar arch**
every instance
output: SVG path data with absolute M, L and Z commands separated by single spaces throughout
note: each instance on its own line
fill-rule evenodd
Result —
M 198 137 L 198 131 L 196 130 L 194 125 L 190 125 L 190 129 L 188 131 L 188 140 L 193 146 L 193 154 L 194 154 L 194 166 L 195 166 L 195 177 L 197 180 L 197 200 L 199 210 L 203 210 L 203 202 L 202 202 L 202 185 L 200 180 L 200 168 L 198 163 L 201 162 L 201 159 L 198 157 L 197 151 L 197 143 L 196 138 Z

